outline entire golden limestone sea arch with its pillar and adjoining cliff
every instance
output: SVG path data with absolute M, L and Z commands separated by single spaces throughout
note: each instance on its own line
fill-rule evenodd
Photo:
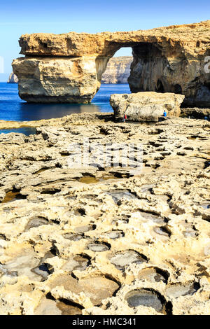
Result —
M 132 92 L 176 92 L 190 106 L 210 105 L 210 20 L 147 31 L 25 34 L 20 46 L 25 57 L 13 61 L 13 71 L 28 102 L 90 102 L 109 59 L 132 47 Z

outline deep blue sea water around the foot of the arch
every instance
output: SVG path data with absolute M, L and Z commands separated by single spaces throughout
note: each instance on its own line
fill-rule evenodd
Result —
M 109 104 L 111 94 L 129 94 L 127 83 L 102 84 L 90 104 L 28 104 L 20 99 L 17 83 L 0 83 L 0 120 L 31 121 L 61 118 L 71 113 L 113 112 Z M 32 128 L 0 130 L 0 133 L 22 132 L 34 133 Z

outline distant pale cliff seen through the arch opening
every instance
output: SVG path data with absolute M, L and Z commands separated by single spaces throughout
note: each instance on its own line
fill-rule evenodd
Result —
M 102 83 L 127 83 L 132 60 L 132 56 L 111 58 L 107 64 L 106 71 L 102 75 Z

